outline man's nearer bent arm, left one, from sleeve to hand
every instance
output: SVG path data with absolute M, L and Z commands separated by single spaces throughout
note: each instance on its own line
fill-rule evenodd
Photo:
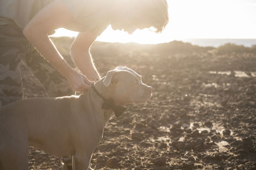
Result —
M 45 59 L 51 62 L 67 78 L 71 87 L 77 92 L 84 92 L 92 82 L 86 76 L 77 73 L 60 55 L 47 32 L 63 27 L 72 21 L 72 13 L 60 0 L 48 4 L 33 17 L 23 30 L 24 36 L 36 47 Z M 85 82 L 85 83 L 84 83 Z

